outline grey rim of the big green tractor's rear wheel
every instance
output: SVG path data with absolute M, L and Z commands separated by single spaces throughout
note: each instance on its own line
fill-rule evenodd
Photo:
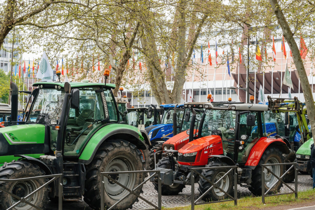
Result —
M 135 173 L 119 173 L 119 171 L 134 171 L 135 166 L 126 156 L 117 156 L 113 158 L 106 166 L 105 172 L 118 172 L 112 174 L 110 177 L 116 180 L 118 183 L 132 190 L 135 185 L 136 174 Z M 110 179 L 104 177 L 104 186 L 108 196 L 112 199 L 120 200 L 127 194 L 128 190 L 114 183 Z

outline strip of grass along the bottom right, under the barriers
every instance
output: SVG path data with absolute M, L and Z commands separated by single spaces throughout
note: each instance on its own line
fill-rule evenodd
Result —
M 238 199 L 238 205 L 234 206 L 234 201 L 227 201 L 223 203 L 211 203 L 195 206 L 195 209 L 259 209 L 266 207 L 274 207 L 279 205 L 289 205 L 294 203 L 302 203 L 307 201 L 314 201 L 315 190 L 306 190 L 298 192 L 298 199 L 295 200 L 294 194 L 280 195 L 265 197 L 265 204 L 261 203 L 261 197 L 247 196 Z M 189 210 L 191 206 L 185 207 L 173 207 L 173 208 L 163 208 L 165 210 Z

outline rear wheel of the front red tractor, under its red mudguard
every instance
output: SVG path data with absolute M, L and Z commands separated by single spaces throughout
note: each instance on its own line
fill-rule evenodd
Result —
M 252 182 L 248 188 L 255 196 L 261 196 L 261 165 L 270 164 L 270 163 L 284 163 L 284 158 L 282 152 L 275 147 L 267 148 L 264 154 L 261 156 L 261 159 L 258 165 L 252 172 Z M 272 172 L 275 173 L 278 177 L 281 177 L 284 173 L 283 165 L 272 166 Z M 265 192 L 275 183 L 278 182 L 278 179 L 267 172 L 265 169 Z M 279 192 L 282 187 L 282 182 L 278 182 L 271 190 L 269 190 L 268 195 L 275 192 Z

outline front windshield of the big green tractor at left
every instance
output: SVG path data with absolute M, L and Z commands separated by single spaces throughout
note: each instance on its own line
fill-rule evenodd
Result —
M 39 89 L 27 122 L 51 124 L 50 120 L 59 121 L 64 98 L 63 89 Z

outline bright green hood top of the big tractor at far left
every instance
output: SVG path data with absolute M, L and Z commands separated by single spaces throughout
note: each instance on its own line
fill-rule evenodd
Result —
M 14 125 L 1 128 L 0 133 L 10 145 L 42 144 L 45 139 L 45 126 L 41 124 Z

